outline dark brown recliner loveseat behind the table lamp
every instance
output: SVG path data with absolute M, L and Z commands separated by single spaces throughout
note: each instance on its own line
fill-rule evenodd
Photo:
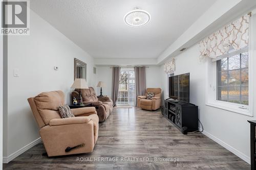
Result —
M 85 105 L 92 104 L 96 108 L 97 115 L 99 116 L 99 122 L 104 122 L 109 117 L 113 110 L 113 102 L 108 96 L 97 98 L 93 87 L 89 89 L 81 89 L 82 101 Z M 72 92 L 72 98 L 79 97 L 79 89 L 75 89 Z

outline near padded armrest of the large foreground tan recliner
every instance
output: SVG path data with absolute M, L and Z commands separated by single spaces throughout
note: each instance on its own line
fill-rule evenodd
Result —
M 59 125 L 71 125 L 71 124 L 85 124 L 89 123 L 90 117 L 69 117 L 69 118 L 54 118 L 49 122 L 49 126 L 59 126 Z

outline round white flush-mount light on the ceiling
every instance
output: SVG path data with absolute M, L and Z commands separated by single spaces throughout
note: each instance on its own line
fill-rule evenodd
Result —
M 138 7 L 124 15 L 124 22 L 132 27 L 143 26 L 149 22 L 150 19 L 150 14 L 144 10 L 139 9 Z

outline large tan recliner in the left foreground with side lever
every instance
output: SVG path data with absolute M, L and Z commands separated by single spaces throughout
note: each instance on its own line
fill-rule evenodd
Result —
M 92 152 L 98 138 L 99 118 L 94 107 L 71 109 L 75 117 L 61 118 L 58 107 L 65 102 L 62 91 L 42 92 L 29 98 L 31 110 L 48 156 Z M 69 152 L 70 147 L 80 147 Z

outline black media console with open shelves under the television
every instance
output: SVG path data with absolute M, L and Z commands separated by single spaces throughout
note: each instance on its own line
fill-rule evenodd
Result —
M 198 130 L 198 106 L 194 104 L 164 100 L 162 113 L 183 134 Z

